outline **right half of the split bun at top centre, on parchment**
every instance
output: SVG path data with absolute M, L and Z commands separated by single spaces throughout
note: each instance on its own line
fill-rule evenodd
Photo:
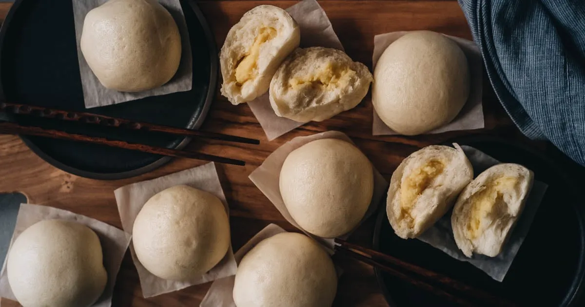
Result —
M 372 80 L 366 65 L 352 61 L 343 51 L 297 49 L 270 82 L 270 104 L 278 116 L 321 122 L 355 108 Z

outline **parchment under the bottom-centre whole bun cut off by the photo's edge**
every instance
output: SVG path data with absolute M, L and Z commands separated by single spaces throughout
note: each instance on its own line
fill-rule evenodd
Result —
M 236 252 L 236 261 L 239 264 L 248 251 L 252 250 L 260 241 L 283 232 L 286 231 L 274 224 L 264 227 L 264 229 L 260 230 L 256 236 L 252 237 L 252 239 Z M 199 307 L 236 307 L 232 295 L 235 280 L 236 277 L 234 275 L 214 281 Z

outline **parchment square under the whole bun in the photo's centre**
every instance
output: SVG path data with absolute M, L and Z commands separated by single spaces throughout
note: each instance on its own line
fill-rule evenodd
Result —
M 309 237 L 312 237 L 319 243 L 328 247 L 329 252 L 332 253 L 333 239 L 326 239 L 308 233 L 302 229 L 302 227 L 299 226 L 294 219 L 292 219 L 292 216 L 288 212 L 287 207 L 284 205 L 283 197 L 280 194 L 280 187 L 278 184 L 280 181 L 280 170 L 283 167 L 284 160 L 287 158 L 288 154 L 290 154 L 291 151 L 303 146 L 304 144 L 321 139 L 339 139 L 354 144 L 349 137 L 338 131 L 328 131 L 313 134 L 312 136 L 295 137 L 289 142 L 283 144 L 283 146 L 278 147 L 277 150 L 270 154 L 270 156 L 264 160 L 264 163 L 262 163 L 258 168 L 256 168 L 256 170 L 252 172 L 252 174 L 250 174 L 249 178 L 252 180 L 252 182 L 254 182 L 254 185 L 256 185 L 256 187 L 259 188 L 264 195 L 266 195 L 270 202 L 273 203 L 276 209 L 278 209 L 278 211 L 283 215 L 284 219 L 307 234 Z M 370 207 L 368 208 L 366 215 L 364 215 L 364 218 L 356 227 L 359 227 L 359 225 L 361 225 L 364 220 L 369 218 L 369 216 L 371 216 L 372 213 L 376 211 L 378 205 L 380 205 L 381 199 L 384 198 L 384 195 L 386 195 L 387 189 L 388 182 L 384 179 L 384 177 L 382 177 L 380 172 L 374 168 L 374 194 L 372 196 Z M 343 236 L 342 239 L 345 239 L 347 236 L 349 236 L 349 233 Z

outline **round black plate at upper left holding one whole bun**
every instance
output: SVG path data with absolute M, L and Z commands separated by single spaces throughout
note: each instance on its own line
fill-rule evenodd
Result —
M 153 96 L 89 112 L 161 125 L 196 129 L 215 94 L 218 72 L 214 37 L 195 4 L 181 1 L 193 58 L 191 91 Z M 0 96 L 6 101 L 82 111 L 85 109 L 77 62 L 71 0 L 18 0 L 0 31 Z M 166 134 L 115 130 L 78 123 L 16 118 L 68 132 L 109 137 L 169 148 L 184 147 L 189 139 Z M 66 140 L 22 137 L 27 146 L 61 170 L 96 179 L 140 175 L 169 158 Z

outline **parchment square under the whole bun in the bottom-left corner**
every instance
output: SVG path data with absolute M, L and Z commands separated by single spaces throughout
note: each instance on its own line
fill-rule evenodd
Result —
M 22 203 L 16 217 L 16 227 L 12 234 L 10 246 L 25 231 L 28 227 L 42 220 L 59 219 L 68 220 L 70 222 L 81 223 L 91 230 L 99 237 L 99 242 L 102 245 L 102 252 L 104 253 L 104 267 L 108 272 L 108 282 L 104 289 L 104 293 L 98 301 L 92 305 L 94 307 L 109 307 L 112 306 L 113 287 L 116 284 L 116 277 L 122 264 L 122 258 L 128 249 L 130 243 L 130 234 L 122 230 L 110 226 L 104 222 L 96 219 L 88 218 L 87 216 L 78 215 L 70 211 L 65 211 L 48 206 L 31 205 Z M 10 249 L 9 249 L 10 251 Z M 7 259 L 8 257 L 6 257 Z M 2 265 L 2 272 L 0 274 L 0 296 L 16 301 L 12 289 L 8 283 L 8 276 L 6 275 L 6 259 Z

